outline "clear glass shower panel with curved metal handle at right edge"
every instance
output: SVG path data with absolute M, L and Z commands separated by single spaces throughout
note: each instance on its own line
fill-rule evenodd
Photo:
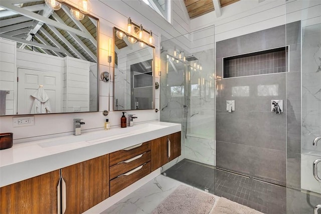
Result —
M 287 213 L 321 213 L 321 183 L 313 176 L 313 162 L 321 158 L 321 4 L 319 1 L 286 2 L 289 54 L 287 84 Z M 293 26 L 293 21 L 299 23 Z M 299 52 L 295 55 L 295 52 Z M 298 134 L 300 133 L 300 134 Z M 321 163 L 316 172 L 321 177 Z M 321 205 L 320 205 L 321 206 Z M 314 212 L 313 212 L 314 211 Z

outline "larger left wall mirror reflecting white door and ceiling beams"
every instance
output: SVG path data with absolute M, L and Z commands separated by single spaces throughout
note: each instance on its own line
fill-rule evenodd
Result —
M 0 115 L 98 111 L 98 19 L 54 2 L 0 1 Z

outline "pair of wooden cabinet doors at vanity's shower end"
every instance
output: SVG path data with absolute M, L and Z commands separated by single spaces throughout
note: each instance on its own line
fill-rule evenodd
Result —
M 150 171 L 165 165 L 181 155 L 181 132 L 150 141 Z

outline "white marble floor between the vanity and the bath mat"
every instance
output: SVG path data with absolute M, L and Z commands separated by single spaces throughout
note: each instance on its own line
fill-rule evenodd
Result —
M 110 206 L 104 214 L 145 214 L 169 196 L 179 185 L 187 185 L 178 180 L 158 175 L 117 203 Z M 217 202 L 220 197 L 216 196 Z M 178 213 L 179 214 L 179 213 Z

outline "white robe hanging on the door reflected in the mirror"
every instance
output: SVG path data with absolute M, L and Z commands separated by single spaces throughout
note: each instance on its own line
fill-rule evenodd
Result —
M 43 87 L 40 87 L 34 94 L 30 96 L 35 99 L 31 107 L 31 114 L 44 114 L 51 112 L 49 97 Z

